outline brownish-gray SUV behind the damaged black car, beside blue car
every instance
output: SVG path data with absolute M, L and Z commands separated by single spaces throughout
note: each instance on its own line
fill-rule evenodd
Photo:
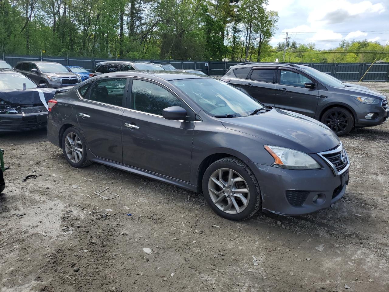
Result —
M 81 77 L 69 72 L 65 66 L 56 62 L 18 62 L 15 70 L 42 85 L 49 88 L 73 86 L 81 82 Z

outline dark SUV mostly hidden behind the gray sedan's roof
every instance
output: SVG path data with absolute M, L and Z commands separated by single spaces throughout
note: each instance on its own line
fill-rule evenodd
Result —
M 148 63 L 148 62 L 127 62 L 127 61 L 104 61 L 97 63 L 92 72 L 89 73 L 89 77 L 104 73 L 112 73 L 119 71 L 131 71 L 131 70 L 165 70 L 161 65 Z

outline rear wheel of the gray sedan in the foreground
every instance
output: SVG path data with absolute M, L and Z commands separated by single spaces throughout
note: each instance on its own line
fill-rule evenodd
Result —
M 62 136 L 62 150 L 65 159 L 73 167 L 86 167 L 92 163 L 86 156 L 86 142 L 80 130 L 70 127 Z

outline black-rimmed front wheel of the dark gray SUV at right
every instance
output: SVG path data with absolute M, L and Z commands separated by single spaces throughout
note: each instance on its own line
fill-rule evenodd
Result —
M 343 107 L 332 107 L 325 111 L 321 122 L 338 136 L 349 134 L 354 128 L 354 116 Z

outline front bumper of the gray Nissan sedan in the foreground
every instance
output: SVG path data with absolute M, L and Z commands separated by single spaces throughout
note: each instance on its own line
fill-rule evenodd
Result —
M 312 170 L 282 169 L 255 163 L 249 163 L 249 167 L 261 188 L 262 209 L 280 215 L 302 215 L 329 208 L 343 197 L 349 183 L 349 165 L 337 176 L 327 165 Z M 296 203 L 301 205 L 296 206 Z

